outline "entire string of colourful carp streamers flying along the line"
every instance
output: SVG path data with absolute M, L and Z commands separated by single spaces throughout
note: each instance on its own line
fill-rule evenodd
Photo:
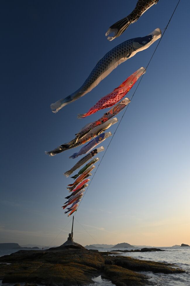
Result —
M 127 27 L 130 24 L 136 22 L 139 19 L 139 17 L 144 12 L 146 12 L 146 10 L 148 10 L 154 4 L 157 4 L 158 1 L 159 0 L 152 0 L 152 1 L 138 0 L 137 5 L 135 9 L 132 11 L 132 13 L 130 13 L 127 17 L 123 18 L 122 20 L 116 22 L 112 26 L 110 26 L 110 28 L 106 32 L 106 36 L 110 35 L 111 33 L 113 33 L 114 35 L 112 37 L 109 36 L 108 40 L 111 41 L 119 37 L 127 29 Z M 170 23 L 170 20 L 168 24 Z M 102 79 L 107 77 L 110 74 L 110 72 L 112 72 L 112 70 L 115 69 L 118 65 L 120 65 L 122 62 L 125 62 L 130 57 L 133 57 L 136 53 L 147 49 L 148 47 L 150 47 L 150 45 L 152 45 L 159 38 L 160 40 L 162 38 L 161 30 L 160 28 L 156 28 L 155 30 L 153 30 L 153 32 L 151 32 L 150 34 L 144 37 L 137 37 L 137 38 L 129 39 L 119 44 L 112 50 L 110 50 L 108 53 L 106 53 L 105 56 L 102 57 L 101 60 L 99 60 L 99 62 L 94 67 L 94 69 L 91 71 L 89 77 L 85 80 L 84 84 L 82 84 L 82 86 L 76 92 L 73 92 L 68 97 L 65 97 L 64 99 L 60 99 L 56 103 L 51 104 L 52 112 L 54 113 L 58 112 L 65 105 L 74 102 L 75 100 L 79 99 L 80 97 L 90 92 L 94 87 L 96 87 L 96 85 L 99 84 L 99 82 Z M 158 44 L 159 43 L 160 41 L 158 42 Z M 76 148 L 88 142 L 77 153 L 74 153 L 72 156 L 70 156 L 70 158 L 75 159 L 80 155 L 84 155 L 84 154 L 87 154 L 87 155 L 85 155 L 82 159 L 80 159 L 77 163 L 75 163 L 75 165 L 70 170 L 64 173 L 66 177 L 69 177 L 75 170 L 79 169 L 85 163 L 91 160 L 89 163 L 84 165 L 82 169 L 78 171 L 78 173 L 76 173 L 74 176 L 71 177 L 76 180 L 73 183 L 68 185 L 67 189 L 69 190 L 69 192 L 71 192 L 71 194 L 65 197 L 65 199 L 68 199 L 68 201 L 65 202 L 64 205 L 62 206 L 63 209 L 69 206 L 67 208 L 67 211 L 65 211 L 65 214 L 70 212 L 68 216 L 70 216 L 75 211 L 77 211 L 80 205 L 80 201 L 84 195 L 85 188 L 86 187 L 88 188 L 87 182 L 90 181 L 88 177 L 91 176 L 91 171 L 93 171 L 95 168 L 94 164 L 99 161 L 99 158 L 93 158 L 93 157 L 96 156 L 99 152 L 104 151 L 103 146 L 96 148 L 96 149 L 94 148 L 98 144 L 103 142 L 106 138 L 112 135 L 111 132 L 105 133 L 104 131 L 108 129 L 110 126 L 112 126 L 113 124 L 118 122 L 118 119 L 116 117 L 112 119 L 113 116 L 118 114 L 123 109 L 125 109 L 126 111 L 126 108 L 128 107 L 128 104 L 130 103 L 130 99 L 127 97 L 126 98 L 124 97 L 129 92 L 129 90 L 134 86 L 134 84 L 138 81 L 138 79 L 142 75 L 145 74 L 145 72 L 146 72 L 146 69 L 144 67 L 139 68 L 132 75 L 129 75 L 129 77 L 127 77 L 127 79 L 122 84 L 120 84 L 119 87 L 115 88 L 113 92 L 110 92 L 106 96 L 99 99 L 99 101 L 93 107 L 91 107 L 87 113 L 79 114 L 78 118 L 84 118 L 86 116 L 90 116 L 91 114 L 101 109 L 105 109 L 105 108 L 113 106 L 109 111 L 104 113 L 101 118 L 84 126 L 78 133 L 75 134 L 76 135 L 75 138 L 72 139 L 70 142 L 64 143 L 62 145 L 59 145 L 57 148 L 51 151 L 45 152 L 46 154 L 49 154 L 50 156 L 54 156 L 65 150 Z M 138 86 L 139 84 L 137 85 L 137 87 Z M 136 90 L 137 88 L 135 89 L 135 91 Z

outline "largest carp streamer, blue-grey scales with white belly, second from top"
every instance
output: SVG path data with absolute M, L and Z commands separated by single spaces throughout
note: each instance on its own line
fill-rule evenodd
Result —
M 136 53 L 150 47 L 161 37 L 161 30 L 156 28 L 152 33 L 144 37 L 132 38 L 110 50 L 91 71 L 84 84 L 74 93 L 51 104 L 52 112 L 58 112 L 63 106 L 74 102 L 90 92 L 102 79 L 107 77 L 118 65 L 133 57 Z

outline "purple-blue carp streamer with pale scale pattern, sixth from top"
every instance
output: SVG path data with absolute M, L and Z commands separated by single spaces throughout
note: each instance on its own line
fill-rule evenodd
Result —
M 90 152 L 94 147 L 96 147 L 98 144 L 100 144 L 102 141 L 104 141 L 106 138 L 111 136 L 111 132 L 102 133 L 93 140 L 91 140 L 87 145 L 83 146 L 79 152 L 72 154 L 69 158 L 75 159 L 80 155 L 87 154 Z

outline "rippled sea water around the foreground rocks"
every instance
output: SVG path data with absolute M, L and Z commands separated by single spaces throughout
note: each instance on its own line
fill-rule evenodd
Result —
M 146 274 L 150 277 L 149 281 L 154 282 L 158 286 L 190 286 L 190 247 L 158 247 L 165 251 L 152 251 L 152 252 L 120 252 L 118 255 L 131 256 L 142 260 L 151 260 L 157 262 L 172 263 L 175 267 L 182 268 L 185 273 L 177 274 L 163 274 L 152 273 L 146 271 L 140 271 L 142 274 Z M 137 249 L 137 248 L 127 248 Z M 118 250 L 112 248 L 111 250 Z M 125 250 L 121 248 L 121 250 Z M 0 250 L 0 256 L 8 255 L 18 251 L 18 249 Z M 99 251 L 110 251 L 110 249 L 99 249 Z M 111 254 L 115 255 L 115 254 Z M 95 277 L 94 283 L 91 286 L 113 286 L 109 280 L 105 277 Z M 15 283 L 14 283 L 15 284 Z M 1 281 L 0 281 L 1 285 Z M 4 285 L 4 284 L 3 284 Z

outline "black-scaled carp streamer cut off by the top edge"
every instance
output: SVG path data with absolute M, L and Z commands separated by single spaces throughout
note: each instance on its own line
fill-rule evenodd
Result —
M 138 0 L 137 5 L 132 13 L 110 26 L 106 32 L 106 37 L 111 33 L 113 33 L 113 37 L 110 36 L 107 39 L 112 41 L 119 37 L 130 24 L 136 22 L 144 12 L 146 12 L 154 4 L 158 3 L 158 1 L 159 0 Z

